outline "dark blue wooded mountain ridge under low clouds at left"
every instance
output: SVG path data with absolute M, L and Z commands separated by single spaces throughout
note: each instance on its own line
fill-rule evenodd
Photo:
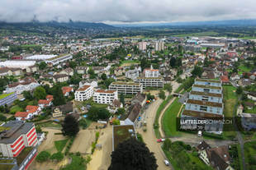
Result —
M 14 35 L 14 34 L 106 34 L 119 30 L 112 25 L 103 23 L 92 23 L 92 22 L 80 22 L 80 21 L 69 21 L 69 22 L 19 22 L 19 23 L 8 23 L 0 21 L 0 34 Z

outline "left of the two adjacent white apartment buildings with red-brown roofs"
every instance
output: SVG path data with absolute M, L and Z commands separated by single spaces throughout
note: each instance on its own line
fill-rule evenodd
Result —
M 90 99 L 93 95 L 93 87 L 91 85 L 83 85 L 83 87 L 76 90 L 74 98 L 76 101 L 84 101 Z

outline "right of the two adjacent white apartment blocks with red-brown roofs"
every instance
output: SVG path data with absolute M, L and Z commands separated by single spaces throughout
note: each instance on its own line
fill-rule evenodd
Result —
M 93 101 L 96 103 L 110 104 L 118 99 L 116 90 L 96 90 L 93 94 Z

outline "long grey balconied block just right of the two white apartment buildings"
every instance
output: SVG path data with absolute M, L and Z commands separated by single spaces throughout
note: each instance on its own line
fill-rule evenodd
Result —
M 137 94 L 142 93 L 143 85 L 134 82 L 112 82 L 108 87 L 109 90 L 116 90 L 118 94 Z

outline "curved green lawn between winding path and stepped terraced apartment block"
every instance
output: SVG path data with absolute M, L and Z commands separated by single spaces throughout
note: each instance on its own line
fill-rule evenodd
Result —
M 162 121 L 163 130 L 165 136 L 179 136 L 180 132 L 177 131 L 177 115 L 179 109 L 182 107 L 182 103 L 178 102 L 176 98 L 173 103 L 166 109 Z

